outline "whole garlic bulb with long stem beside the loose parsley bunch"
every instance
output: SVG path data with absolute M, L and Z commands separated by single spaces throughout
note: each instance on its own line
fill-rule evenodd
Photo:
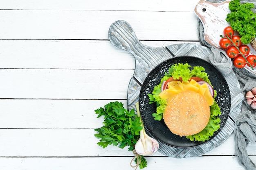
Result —
M 139 132 L 140 133 L 140 138 L 135 144 L 135 150 L 137 154 L 139 155 L 152 155 L 153 153 L 156 153 L 159 144 L 157 140 L 153 139 L 152 137 L 148 136 L 146 134 L 146 131 L 144 129 L 143 122 L 141 121 L 140 113 L 139 113 L 139 102 L 136 103 L 136 108 L 137 108 L 137 116 L 140 118 L 140 122 L 142 123 L 142 130 Z

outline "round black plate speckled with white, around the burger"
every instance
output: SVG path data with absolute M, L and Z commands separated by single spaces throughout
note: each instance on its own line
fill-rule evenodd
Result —
M 154 120 L 152 113 L 156 112 L 156 104 L 148 104 L 149 98 L 148 94 L 152 94 L 155 85 L 158 85 L 164 76 L 165 72 L 168 72 L 168 68 L 175 63 L 188 63 L 193 66 L 202 66 L 205 68 L 205 72 L 209 75 L 209 79 L 213 85 L 213 88 L 217 91 L 216 101 L 220 107 L 222 114 L 220 115 L 220 129 L 214 133 L 209 140 L 215 137 L 223 128 L 229 117 L 231 99 L 230 92 L 227 81 L 222 76 L 222 74 L 207 61 L 190 56 L 174 57 L 168 59 L 159 65 L 157 65 L 146 77 L 139 94 L 139 109 L 141 112 L 141 119 L 144 123 L 146 130 L 150 133 L 152 137 L 159 140 L 160 142 L 177 148 L 191 148 L 204 144 L 205 142 L 195 142 L 190 141 L 185 136 L 180 137 L 171 133 L 168 129 L 164 120 L 161 121 Z M 208 141 L 209 141 L 208 140 Z

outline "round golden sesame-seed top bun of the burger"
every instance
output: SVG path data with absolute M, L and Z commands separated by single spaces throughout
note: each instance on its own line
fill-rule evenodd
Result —
M 184 91 L 168 99 L 163 118 L 172 133 L 194 135 L 207 126 L 210 107 L 201 94 Z

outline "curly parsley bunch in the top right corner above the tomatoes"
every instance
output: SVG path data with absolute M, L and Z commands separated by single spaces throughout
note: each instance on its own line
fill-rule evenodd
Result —
M 231 13 L 227 14 L 226 21 L 239 33 L 243 44 L 249 44 L 256 36 L 256 14 L 252 11 L 253 8 L 253 3 L 240 4 L 240 0 L 229 2 Z

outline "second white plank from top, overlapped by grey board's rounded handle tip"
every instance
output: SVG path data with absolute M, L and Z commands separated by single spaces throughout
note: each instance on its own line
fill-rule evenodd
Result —
M 140 40 L 198 41 L 194 12 L 0 10 L 1 39 L 108 39 L 126 20 Z

